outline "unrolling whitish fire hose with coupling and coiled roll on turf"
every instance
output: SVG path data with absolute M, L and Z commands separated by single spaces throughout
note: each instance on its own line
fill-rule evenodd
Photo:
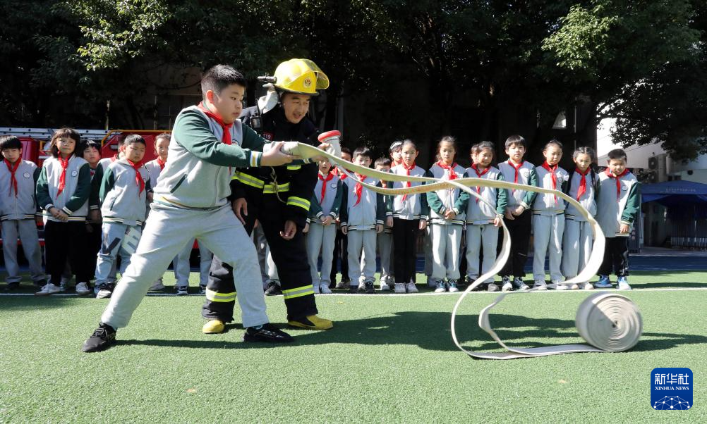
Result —
M 338 137 L 332 136 L 327 133 L 327 143 L 339 145 Z M 320 139 L 321 140 L 321 139 Z M 322 140 L 323 141 L 323 140 Z M 336 148 L 329 148 L 330 152 L 336 151 Z M 519 189 L 533 191 L 535 193 L 547 193 L 556 195 L 563 200 L 566 200 L 570 205 L 573 205 L 580 214 L 590 223 L 592 227 L 592 233 L 594 234 L 594 243 L 592 246 L 592 253 L 588 260 L 587 266 L 582 269 L 576 277 L 563 281 L 561 284 L 578 284 L 585 281 L 589 281 L 593 277 L 604 258 L 604 234 L 600 229 L 599 224 L 596 219 L 586 210 L 582 205 L 580 205 L 577 200 L 571 198 L 565 193 L 558 190 L 550 190 L 542 187 L 532 187 L 525 186 L 522 184 L 510 183 L 507 181 L 498 180 L 486 180 L 482 178 L 460 178 L 455 180 L 440 180 L 437 178 L 428 178 L 421 176 L 406 176 L 390 174 L 387 172 L 376 171 L 375 169 L 370 169 L 364 166 L 358 166 L 351 162 L 345 161 L 338 157 L 338 155 L 331 155 L 328 152 L 317 149 L 305 144 L 298 144 L 290 152 L 293 155 L 297 155 L 302 158 L 318 158 L 326 157 L 330 162 L 336 164 L 339 170 L 349 176 L 352 180 L 361 183 L 362 186 L 373 190 L 375 193 L 380 193 L 382 195 L 403 195 L 403 194 L 417 194 L 426 193 L 429 191 L 436 191 L 442 188 L 459 188 L 465 192 L 477 198 L 479 201 L 486 203 L 495 209 L 495 205 L 491 205 L 489 202 L 481 198 L 476 191 L 472 190 L 471 187 L 484 186 L 493 188 L 506 188 L 510 190 Z M 356 172 L 360 175 L 372 176 L 378 178 L 381 181 L 401 181 L 401 182 L 421 182 L 424 185 L 415 186 L 410 188 L 380 188 L 373 186 L 363 181 L 358 180 L 352 172 Z M 503 298 L 511 295 L 519 295 L 530 293 L 536 289 L 530 289 L 528 291 L 522 292 L 509 292 L 502 293 L 498 298 L 496 298 L 491 305 L 486 306 L 481 313 L 479 313 L 479 327 L 484 329 L 485 332 L 489 333 L 491 337 L 496 340 L 496 342 L 506 349 L 507 352 L 474 352 L 469 349 L 465 349 L 460 344 L 457 339 L 457 333 L 455 329 L 455 319 L 457 316 L 457 310 L 461 305 L 464 298 L 474 289 L 479 286 L 483 281 L 493 277 L 503 268 L 503 264 L 508 260 L 510 255 L 510 233 L 508 232 L 508 227 L 506 223 L 501 219 L 501 224 L 503 226 L 503 244 L 501 246 L 501 253 L 496 258 L 496 262 L 493 263 L 493 267 L 489 269 L 489 272 L 482 274 L 470 284 L 466 290 L 462 293 L 459 300 L 452 310 L 451 319 L 451 329 L 452 329 L 452 339 L 459 349 L 464 353 L 467 353 L 473 358 L 483 358 L 483 359 L 513 359 L 513 358 L 530 358 L 534 356 L 549 356 L 549 355 L 559 355 L 561 353 L 578 353 L 578 352 L 619 352 L 631 349 L 638 343 L 638 338 L 641 337 L 641 330 L 643 329 L 643 322 L 641 320 L 641 313 L 638 311 L 638 307 L 629 298 L 621 296 L 618 294 L 598 292 L 594 293 L 580 304 L 577 315 L 575 316 L 575 326 L 580 336 L 587 341 L 588 344 L 562 344 L 556 346 L 542 346 L 536 348 L 517 348 L 513 346 L 507 346 L 498 337 L 498 334 L 493 331 L 491 327 L 491 322 L 489 320 L 489 311 L 493 306 L 498 305 L 503 301 Z

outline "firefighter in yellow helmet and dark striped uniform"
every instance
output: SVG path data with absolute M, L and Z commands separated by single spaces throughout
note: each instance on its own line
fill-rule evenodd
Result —
M 267 95 L 256 107 L 243 110 L 243 123 L 268 140 L 292 140 L 318 145 L 318 131 L 307 116 L 310 99 L 317 90 L 329 87 L 329 79 L 307 59 L 291 59 L 276 68 Z M 281 291 L 287 308 L 288 325 L 305 329 L 330 329 L 329 320 L 317 316 L 312 274 L 302 232 L 317 183 L 317 164 L 238 169 L 231 181 L 233 211 L 251 234 L 256 220 L 270 246 L 279 273 L 267 294 Z M 238 246 L 233 246 L 237 249 Z M 204 333 L 223 332 L 233 321 L 235 286 L 233 268 L 214 256 L 206 301 L 202 308 Z

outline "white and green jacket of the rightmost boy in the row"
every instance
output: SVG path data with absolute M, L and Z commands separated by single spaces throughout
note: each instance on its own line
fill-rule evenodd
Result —
M 627 224 L 632 228 L 636 222 L 641 212 L 641 183 L 631 172 L 617 178 L 610 177 L 610 173 L 608 168 L 599 173 L 597 221 L 605 237 L 627 237 L 629 234 L 619 234 L 619 225 Z

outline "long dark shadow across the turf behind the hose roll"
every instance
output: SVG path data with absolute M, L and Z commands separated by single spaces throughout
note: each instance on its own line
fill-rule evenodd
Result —
M 450 315 L 436 312 L 403 312 L 390 317 L 367 317 L 361 320 L 337 321 L 334 329 L 326 332 L 312 332 L 302 329 L 287 329 L 295 337 L 293 344 L 266 344 L 244 343 L 240 341 L 243 334 L 242 327 L 230 326 L 231 332 L 238 341 L 224 340 L 219 337 L 214 340 L 118 340 L 119 346 L 158 346 L 177 347 L 189 349 L 262 349 L 302 345 L 320 344 L 363 344 L 363 345 L 416 345 L 421 349 L 431 351 L 456 351 L 457 347 L 452 342 L 449 329 Z M 580 339 L 574 330 L 572 320 L 556 320 L 544 318 L 529 318 L 522 315 L 493 315 L 494 329 L 503 341 L 508 341 L 513 346 L 524 347 L 548 346 L 542 339 L 570 338 L 563 343 L 578 343 Z M 489 334 L 481 330 L 478 325 L 477 315 L 462 315 L 457 317 L 457 334 L 462 337 L 462 344 L 468 341 L 482 341 L 481 346 L 474 346 L 474 350 L 499 349 L 500 346 L 491 339 Z M 527 330 L 513 331 L 512 328 L 522 327 Z M 234 338 L 235 338 L 234 337 Z M 691 334 L 670 333 L 644 333 L 644 339 L 633 349 L 634 351 L 656 351 L 671 349 L 684 344 L 707 344 L 707 337 Z M 660 339 L 646 340 L 645 337 L 658 337 Z M 527 341 L 528 338 L 539 341 Z M 521 341 L 522 340 L 522 341 Z

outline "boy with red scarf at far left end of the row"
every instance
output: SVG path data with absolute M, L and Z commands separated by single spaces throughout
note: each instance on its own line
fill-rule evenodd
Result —
M 35 186 L 41 170 L 22 159 L 22 142 L 14 135 L 0 137 L 4 165 L 0 166 L 0 222 L 3 254 L 7 270 L 6 290 L 14 290 L 22 279 L 17 264 L 18 236 L 30 262 L 30 274 L 35 286 L 44 286 L 42 253 L 37 236 L 37 201 Z

